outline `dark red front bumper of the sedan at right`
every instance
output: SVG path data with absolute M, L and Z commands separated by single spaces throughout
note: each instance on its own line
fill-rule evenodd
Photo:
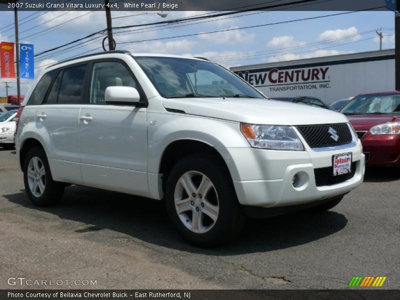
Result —
M 372 135 L 367 132 L 361 143 L 367 165 L 400 166 L 400 135 Z

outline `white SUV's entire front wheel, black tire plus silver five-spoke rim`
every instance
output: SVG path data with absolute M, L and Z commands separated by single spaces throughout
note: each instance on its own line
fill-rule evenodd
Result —
M 230 174 L 211 155 L 188 155 L 172 167 L 166 181 L 165 202 L 177 231 L 197 246 L 225 243 L 244 225 L 244 210 L 237 201 Z

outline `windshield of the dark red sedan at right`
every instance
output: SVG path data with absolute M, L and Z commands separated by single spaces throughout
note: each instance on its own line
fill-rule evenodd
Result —
M 400 112 L 400 94 L 360 95 L 340 110 L 344 114 L 385 114 Z

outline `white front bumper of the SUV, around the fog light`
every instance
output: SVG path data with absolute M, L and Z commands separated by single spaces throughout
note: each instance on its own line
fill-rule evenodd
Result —
M 359 140 L 348 147 L 326 151 L 314 151 L 306 145 L 305 148 L 305 151 L 226 149 L 231 156 L 228 168 L 239 202 L 260 207 L 309 203 L 347 193 L 363 181 L 365 155 Z M 352 153 L 354 175 L 337 184 L 317 186 L 314 169 L 331 167 L 332 155 L 346 152 Z M 225 160 L 226 155 L 223 155 Z M 293 187 L 296 173 L 300 174 L 300 184 Z

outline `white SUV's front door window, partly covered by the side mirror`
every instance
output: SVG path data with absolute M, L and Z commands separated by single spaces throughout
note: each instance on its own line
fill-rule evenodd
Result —
M 136 81 L 122 63 L 117 61 L 93 63 L 90 103 L 105 104 L 104 93 L 108 86 L 131 86 L 137 89 Z

